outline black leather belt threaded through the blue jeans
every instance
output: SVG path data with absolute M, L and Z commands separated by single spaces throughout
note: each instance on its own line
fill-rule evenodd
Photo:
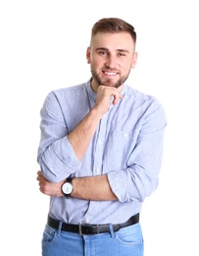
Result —
M 52 217 L 48 216 L 48 222 L 51 227 L 58 229 L 60 225 L 60 221 L 53 219 Z M 124 224 L 112 224 L 114 231 L 118 231 L 120 228 L 137 224 L 139 223 L 139 214 L 132 216 L 127 222 Z M 61 229 L 63 231 L 68 232 L 75 232 L 79 233 L 80 235 L 83 234 L 97 234 L 97 233 L 104 233 L 110 231 L 110 224 L 66 224 L 62 223 Z

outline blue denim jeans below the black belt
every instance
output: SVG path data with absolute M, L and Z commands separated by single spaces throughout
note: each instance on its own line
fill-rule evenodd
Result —
M 54 229 L 46 224 L 42 238 L 42 256 L 143 256 L 144 243 L 140 224 L 114 232 L 79 235 Z

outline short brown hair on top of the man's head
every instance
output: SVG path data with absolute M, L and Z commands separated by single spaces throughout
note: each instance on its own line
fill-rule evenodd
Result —
M 92 27 L 91 38 L 97 32 L 129 32 L 134 43 L 136 42 L 136 32 L 134 28 L 119 18 L 103 18 Z

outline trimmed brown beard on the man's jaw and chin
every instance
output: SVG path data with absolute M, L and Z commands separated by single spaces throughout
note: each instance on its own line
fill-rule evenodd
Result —
M 117 82 L 114 82 L 112 79 L 100 79 L 100 73 L 96 73 L 92 67 L 91 67 L 91 74 L 92 78 L 95 80 L 95 82 L 98 84 L 98 86 L 107 86 L 107 87 L 114 87 L 114 88 L 119 88 L 122 86 L 125 82 L 125 80 L 128 78 L 130 73 L 130 70 L 128 71 L 126 76 L 122 76 Z

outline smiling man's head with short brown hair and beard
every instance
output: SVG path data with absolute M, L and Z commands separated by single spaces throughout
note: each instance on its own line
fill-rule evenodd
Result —
M 100 85 L 123 86 L 137 59 L 134 28 L 118 18 L 104 18 L 94 24 L 86 58 L 91 67 L 92 89 Z

